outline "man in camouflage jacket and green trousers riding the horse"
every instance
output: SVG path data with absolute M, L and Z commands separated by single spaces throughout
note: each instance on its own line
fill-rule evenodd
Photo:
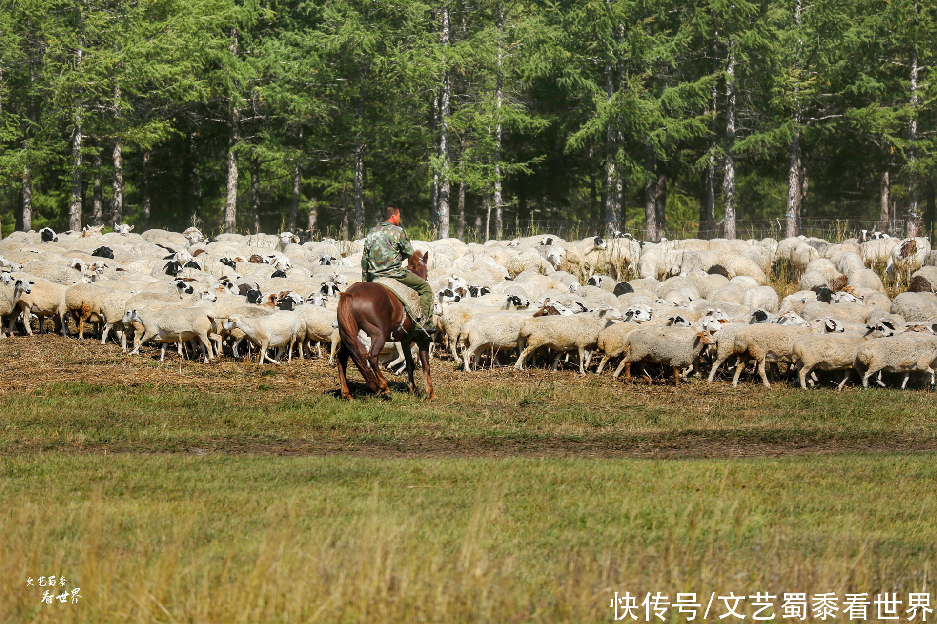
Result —
M 415 328 L 417 331 L 432 335 L 436 332 L 433 324 L 433 289 L 425 279 L 403 268 L 401 262 L 413 255 L 407 230 L 400 227 L 400 211 L 394 206 L 384 208 L 384 220 L 367 232 L 364 237 L 364 253 L 361 257 L 361 272 L 365 282 L 373 282 L 378 277 L 390 277 L 404 286 L 416 290 L 420 295 L 420 307 L 423 319 Z M 417 310 L 412 310 L 418 313 Z

